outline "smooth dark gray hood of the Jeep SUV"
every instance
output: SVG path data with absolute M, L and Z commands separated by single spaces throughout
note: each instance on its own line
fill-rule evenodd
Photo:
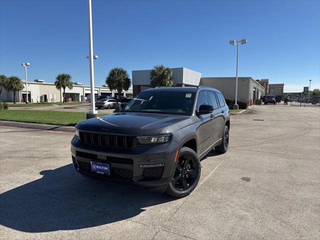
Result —
M 76 128 L 112 134 L 150 135 L 158 134 L 164 127 L 190 118 L 190 116 L 118 112 L 111 115 L 87 119 L 76 124 Z

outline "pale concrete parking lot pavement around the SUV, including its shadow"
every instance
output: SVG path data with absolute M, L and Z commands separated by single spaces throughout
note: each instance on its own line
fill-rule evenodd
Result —
M 0 126 L 1 239 L 319 239 L 320 108 L 232 115 L 230 148 L 187 197 L 90 180 L 72 134 Z

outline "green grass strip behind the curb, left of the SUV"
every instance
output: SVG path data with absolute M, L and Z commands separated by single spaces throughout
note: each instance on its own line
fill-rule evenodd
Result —
M 107 115 L 106 113 L 99 114 Z M 63 126 L 74 126 L 85 120 L 85 112 L 41 111 L 41 110 L 0 110 L 0 120 L 22 121 Z

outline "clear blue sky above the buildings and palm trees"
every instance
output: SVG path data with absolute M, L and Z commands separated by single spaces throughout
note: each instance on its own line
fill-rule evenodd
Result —
M 202 76 L 269 78 L 285 91 L 320 87 L 320 1 L 92 0 L 96 85 L 114 66 L 186 67 Z M 0 74 L 89 83 L 86 0 L 0 0 Z

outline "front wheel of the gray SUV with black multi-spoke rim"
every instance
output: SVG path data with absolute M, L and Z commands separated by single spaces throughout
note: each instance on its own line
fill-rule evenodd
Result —
M 200 175 L 201 164 L 197 154 L 189 147 L 182 147 L 173 178 L 167 185 L 165 193 L 173 197 L 189 195 L 198 184 Z

